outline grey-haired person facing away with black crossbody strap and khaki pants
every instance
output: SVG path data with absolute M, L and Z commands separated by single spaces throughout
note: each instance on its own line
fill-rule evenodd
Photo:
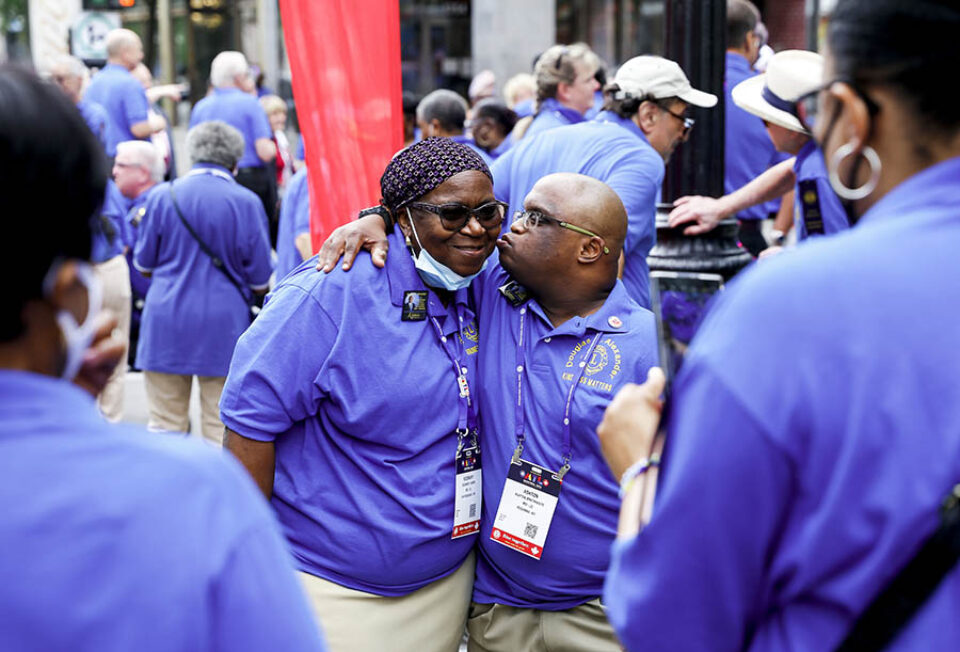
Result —
M 187 153 L 190 172 L 151 192 L 144 206 L 133 264 L 151 280 L 137 364 L 151 429 L 187 430 L 196 376 L 202 433 L 219 445 L 230 356 L 273 270 L 263 206 L 232 174 L 243 136 L 224 122 L 202 122 L 187 133 Z

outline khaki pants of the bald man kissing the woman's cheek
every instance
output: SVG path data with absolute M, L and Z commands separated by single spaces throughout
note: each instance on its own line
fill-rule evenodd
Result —
M 600 600 L 565 611 L 470 605 L 468 652 L 620 652 Z

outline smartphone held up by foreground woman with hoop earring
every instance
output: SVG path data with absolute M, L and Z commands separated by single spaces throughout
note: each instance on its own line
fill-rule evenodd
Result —
M 700 327 L 710 299 L 723 289 L 719 274 L 694 272 L 650 272 L 653 313 L 657 317 L 660 368 L 667 377 L 665 398 L 683 356 Z

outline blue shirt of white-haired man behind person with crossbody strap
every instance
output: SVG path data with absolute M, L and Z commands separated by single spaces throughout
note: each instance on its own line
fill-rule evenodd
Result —
M 222 120 L 243 135 L 243 156 L 237 163 L 238 168 L 263 167 L 263 161 L 257 156 L 256 141 L 272 139 L 273 130 L 257 98 L 239 88 L 214 88 L 212 94 L 194 105 L 190 127 L 208 120 Z

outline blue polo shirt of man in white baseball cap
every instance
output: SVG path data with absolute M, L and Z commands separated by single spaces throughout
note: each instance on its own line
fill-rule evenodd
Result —
M 630 119 L 603 111 L 591 122 L 549 136 L 524 138 L 490 167 L 497 199 L 510 204 L 504 229 L 534 184 L 554 172 L 578 172 L 613 188 L 627 210 L 623 283 L 641 306 L 650 306 L 647 254 L 656 240 L 663 158 Z

